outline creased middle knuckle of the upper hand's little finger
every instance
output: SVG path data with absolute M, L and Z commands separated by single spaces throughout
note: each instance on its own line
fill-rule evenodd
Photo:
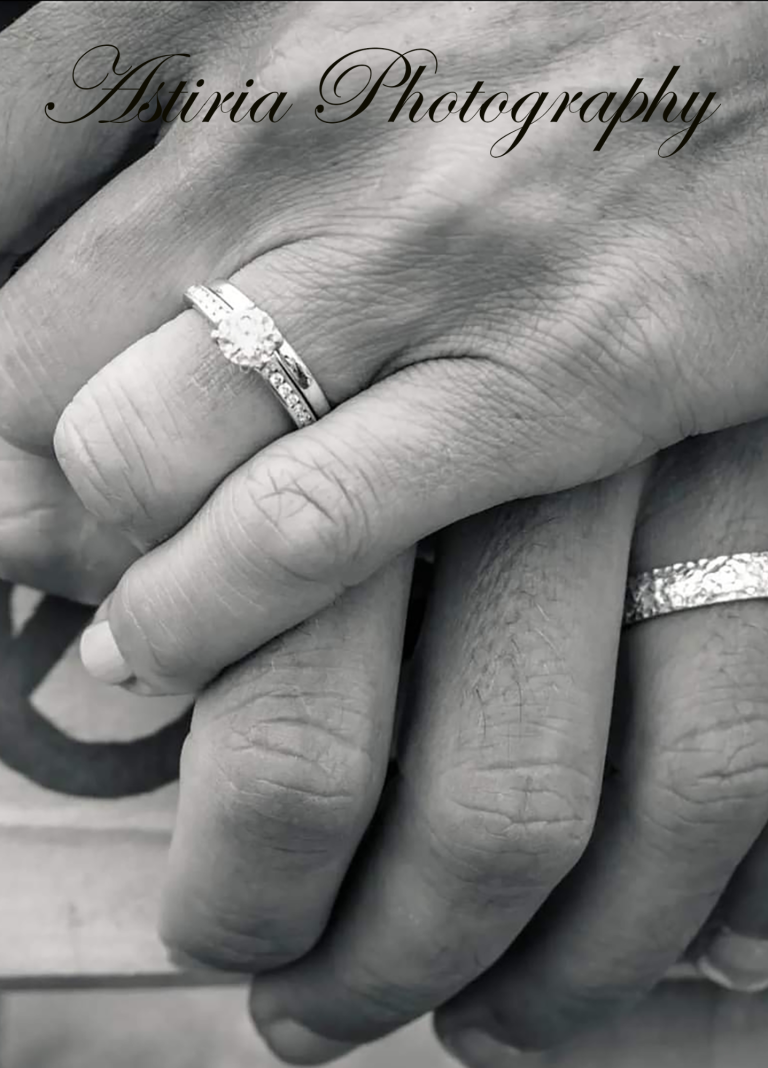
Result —
M 301 457 L 271 452 L 268 464 L 251 468 L 235 502 L 238 533 L 257 539 L 260 555 L 292 583 L 332 579 L 341 564 L 364 557 L 370 541 L 360 482 L 322 447 Z

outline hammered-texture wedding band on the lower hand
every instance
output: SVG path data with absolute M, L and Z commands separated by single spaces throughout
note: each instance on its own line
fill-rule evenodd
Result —
M 624 626 L 670 612 L 764 597 L 768 598 L 768 552 L 671 564 L 629 578 Z

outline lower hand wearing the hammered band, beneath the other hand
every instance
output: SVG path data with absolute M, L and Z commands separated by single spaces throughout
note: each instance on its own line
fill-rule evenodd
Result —
M 743 888 L 765 868 L 765 602 L 630 629 L 613 681 L 632 538 L 632 569 L 761 548 L 767 457 L 768 425 L 746 427 L 442 536 L 373 824 L 408 560 L 201 697 L 164 933 L 263 973 L 280 1055 L 330 1059 L 445 1002 L 471 1066 L 481 1041 L 565 1041 L 664 974 L 745 857 L 724 915 L 765 929 Z

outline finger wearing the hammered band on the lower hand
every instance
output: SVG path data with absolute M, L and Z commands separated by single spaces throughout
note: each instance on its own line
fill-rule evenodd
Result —
M 764 546 L 766 456 L 763 424 L 668 454 L 634 569 Z M 466 1064 L 485 1063 L 488 1038 L 549 1047 L 638 998 L 706 920 L 768 818 L 766 611 L 725 604 L 627 632 L 590 848 L 514 953 L 438 1012 Z

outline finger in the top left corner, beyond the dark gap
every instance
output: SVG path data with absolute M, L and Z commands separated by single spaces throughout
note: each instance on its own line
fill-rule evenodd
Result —
M 109 83 L 113 63 L 125 70 L 126 61 L 163 50 L 168 31 L 159 15 L 147 3 L 137 17 L 136 4 L 43 2 L 0 33 L 3 93 L 12 98 L 0 155 L 0 252 L 34 248 L 111 173 L 150 146 L 157 129 L 145 123 L 99 123 L 99 114 L 67 120 L 95 103 L 76 82 L 94 87 L 108 77 Z M 114 46 L 99 41 L 119 41 L 122 59 Z M 78 63 L 89 46 L 96 47 Z M 181 77 L 184 62 L 167 65 Z M 51 101 L 54 107 L 47 109 Z M 119 113 L 112 109 L 112 115 Z

